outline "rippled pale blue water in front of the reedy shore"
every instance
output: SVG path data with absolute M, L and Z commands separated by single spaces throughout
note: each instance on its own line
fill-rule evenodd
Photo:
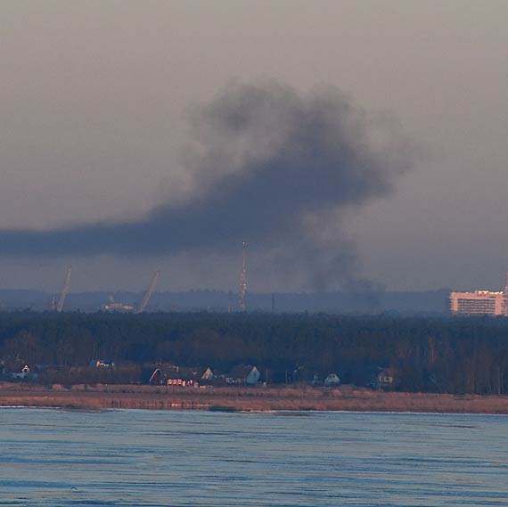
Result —
M 508 505 L 508 417 L 0 409 L 0 505 Z

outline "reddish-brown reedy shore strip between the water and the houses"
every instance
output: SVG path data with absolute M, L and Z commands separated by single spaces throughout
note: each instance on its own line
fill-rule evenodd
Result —
M 0 383 L 0 406 L 155 410 L 333 410 L 353 412 L 508 413 L 508 396 L 398 393 L 365 388 L 167 388 Z

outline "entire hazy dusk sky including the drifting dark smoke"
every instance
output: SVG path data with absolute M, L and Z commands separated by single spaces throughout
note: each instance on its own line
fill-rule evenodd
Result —
M 505 2 L 0 9 L 0 289 L 503 288 Z

